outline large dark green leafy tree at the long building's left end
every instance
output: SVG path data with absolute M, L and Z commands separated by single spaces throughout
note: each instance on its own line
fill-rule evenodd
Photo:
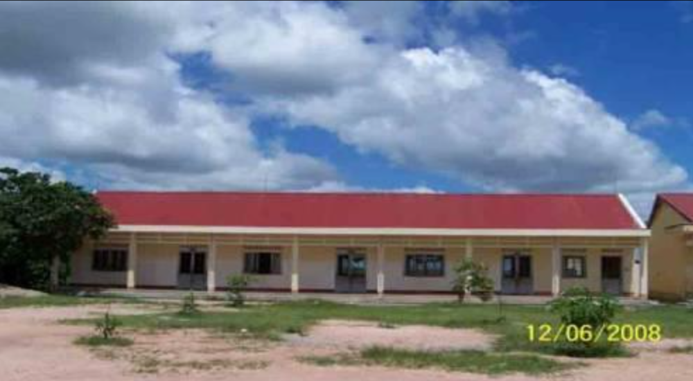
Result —
M 54 258 L 114 226 L 94 195 L 39 172 L 0 168 L 0 283 L 46 288 Z

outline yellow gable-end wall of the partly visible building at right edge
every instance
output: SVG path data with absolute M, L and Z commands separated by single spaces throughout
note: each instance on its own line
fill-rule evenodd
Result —
M 653 298 L 682 299 L 685 296 L 685 236 L 672 229 L 667 230 L 667 227 L 685 223 L 685 218 L 665 202 L 660 204 L 653 216 L 649 256 L 649 293 Z

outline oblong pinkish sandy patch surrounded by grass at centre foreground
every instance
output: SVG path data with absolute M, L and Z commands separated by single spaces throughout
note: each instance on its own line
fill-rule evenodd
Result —
M 322 321 L 307 335 L 289 335 L 296 346 L 360 349 L 392 346 L 421 351 L 491 348 L 494 337 L 479 330 L 433 326 L 380 326 L 371 321 Z

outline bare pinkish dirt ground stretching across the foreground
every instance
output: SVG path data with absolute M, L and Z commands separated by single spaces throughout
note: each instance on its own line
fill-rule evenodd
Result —
M 69 308 L 0 310 L 0 380 L 3 381 L 121 381 L 121 380 L 555 380 L 527 375 L 489 377 L 471 373 L 412 371 L 380 367 L 320 367 L 297 357 L 330 355 L 345 346 L 387 345 L 403 348 L 487 348 L 493 337 L 477 330 L 423 326 L 381 327 L 366 322 L 324 321 L 306 337 L 288 336 L 280 343 L 229 338 L 202 330 L 157 333 L 126 332 L 135 344 L 128 348 L 89 349 L 72 344 L 91 333 L 87 326 L 67 326 L 61 319 L 89 317 L 104 305 Z M 114 305 L 115 314 L 154 312 L 142 305 Z M 637 348 L 629 359 L 590 360 L 561 375 L 563 380 L 689 381 L 693 355 L 667 353 L 671 341 Z

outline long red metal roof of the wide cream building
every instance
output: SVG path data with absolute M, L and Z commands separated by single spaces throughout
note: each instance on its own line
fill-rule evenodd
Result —
M 119 224 L 638 229 L 617 195 L 98 192 Z

